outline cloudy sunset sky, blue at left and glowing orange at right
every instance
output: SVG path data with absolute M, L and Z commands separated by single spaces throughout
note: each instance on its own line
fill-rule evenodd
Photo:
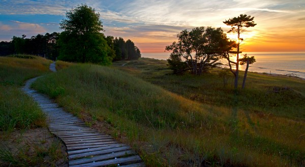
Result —
M 161 53 L 185 29 L 230 27 L 223 21 L 247 14 L 243 52 L 305 52 L 304 0 L 0 0 L 0 41 L 61 32 L 66 12 L 86 4 L 100 13 L 104 34 L 131 39 L 142 53 Z M 227 34 L 234 39 L 236 34 Z

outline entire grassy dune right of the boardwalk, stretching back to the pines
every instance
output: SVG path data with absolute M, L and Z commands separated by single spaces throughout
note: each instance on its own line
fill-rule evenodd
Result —
M 151 166 L 304 163 L 304 115 L 297 101 L 304 97 L 296 93 L 304 93 L 304 81 L 250 73 L 251 89 L 233 96 L 217 71 L 169 75 L 165 62 L 151 59 L 117 68 L 131 74 L 78 64 L 39 78 L 34 88 L 75 115 L 90 115 L 89 124 L 111 123 L 112 135 L 131 143 Z M 294 91 L 279 96 L 269 92 L 273 86 Z

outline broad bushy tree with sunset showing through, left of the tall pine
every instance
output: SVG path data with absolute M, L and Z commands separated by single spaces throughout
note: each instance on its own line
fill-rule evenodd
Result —
M 177 34 L 178 42 L 166 46 L 166 51 L 172 51 L 169 65 L 182 57 L 194 74 L 201 74 L 211 67 L 220 65 L 218 60 L 221 58 L 222 41 L 226 35 L 221 28 L 196 27 L 191 31 L 183 30 Z M 174 58 L 174 59 L 172 59 Z M 184 67 L 176 64 L 175 67 Z M 183 70 L 183 69 L 181 69 Z

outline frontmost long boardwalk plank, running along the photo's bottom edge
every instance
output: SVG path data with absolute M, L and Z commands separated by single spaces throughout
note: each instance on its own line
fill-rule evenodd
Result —
M 129 156 L 129 157 L 125 157 L 125 158 L 109 159 L 109 160 L 104 160 L 104 161 L 99 161 L 99 162 L 76 164 L 76 165 L 71 165 L 71 167 L 76 167 L 76 166 L 106 166 L 106 165 L 111 165 L 111 164 L 138 162 L 140 160 L 141 160 L 141 158 L 138 155 L 135 155 L 135 156 Z

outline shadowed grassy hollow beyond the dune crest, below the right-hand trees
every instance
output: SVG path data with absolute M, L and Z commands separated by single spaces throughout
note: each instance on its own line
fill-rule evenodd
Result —
M 234 92 L 233 75 L 228 74 L 228 84 L 224 87 L 219 77 L 221 69 L 214 69 L 201 76 L 192 74 L 172 75 L 166 66 L 167 61 L 140 58 L 125 66 L 114 62 L 117 68 L 158 85 L 185 98 L 214 106 L 237 107 L 257 114 L 272 114 L 296 120 L 305 120 L 305 80 L 294 77 L 268 76 L 249 72 L 246 89 Z M 243 76 L 243 71 L 240 71 Z M 240 83 L 242 82 L 242 77 Z M 275 93 L 273 89 L 289 90 Z

